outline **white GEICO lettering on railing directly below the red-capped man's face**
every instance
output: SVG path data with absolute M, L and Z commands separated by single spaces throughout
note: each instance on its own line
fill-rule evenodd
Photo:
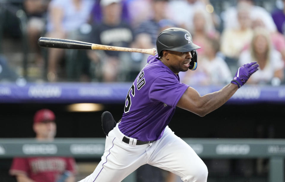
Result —
M 57 147 L 53 144 L 25 144 L 23 145 L 24 154 L 56 154 Z

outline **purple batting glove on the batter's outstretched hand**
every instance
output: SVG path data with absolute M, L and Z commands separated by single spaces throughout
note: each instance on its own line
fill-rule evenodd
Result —
M 256 63 L 257 62 L 255 61 L 248 64 L 244 64 L 243 66 L 239 67 L 231 83 L 236 84 L 238 88 L 243 86 L 250 77 L 250 75 L 252 75 L 258 70 L 259 65 Z

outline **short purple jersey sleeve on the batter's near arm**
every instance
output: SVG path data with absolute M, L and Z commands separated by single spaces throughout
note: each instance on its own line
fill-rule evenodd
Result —
M 148 97 L 152 102 L 163 102 L 171 107 L 176 107 L 188 87 L 172 75 L 163 75 L 153 81 Z

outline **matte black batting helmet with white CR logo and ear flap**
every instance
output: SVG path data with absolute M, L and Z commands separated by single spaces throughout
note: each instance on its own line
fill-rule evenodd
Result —
M 195 70 L 197 67 L 196 49 L 201 48 L 192 41 L 189 31 L 181 28 L 169 28 L 160 32 L 156 39 L 157 53 L 161 56 L 162 50 L 173 50 L 177 52 L 192 51 L 192 64 L 189 69 Z

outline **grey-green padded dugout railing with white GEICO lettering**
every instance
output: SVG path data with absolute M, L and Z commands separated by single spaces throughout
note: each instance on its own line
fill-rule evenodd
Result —
M 184 138 L 201 158 L 268 158 L 269 182 L 284 182 L 285 139 Z M 105 138 L 61 138 L 53 142 L 35 139 L 0 139 L 0 158 L 14 156 L 74 156 L 100 160 Z M 124 182 L 134 182 L 135 173 Z

